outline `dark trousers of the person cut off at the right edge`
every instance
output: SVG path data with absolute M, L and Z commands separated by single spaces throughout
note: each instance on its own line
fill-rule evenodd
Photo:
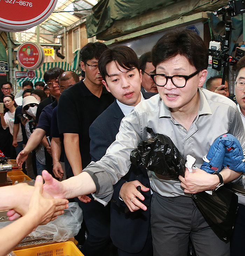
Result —
M 231 238 L 231 256 L 244 256 L 245 205 L 238 204 L 236 222 Z

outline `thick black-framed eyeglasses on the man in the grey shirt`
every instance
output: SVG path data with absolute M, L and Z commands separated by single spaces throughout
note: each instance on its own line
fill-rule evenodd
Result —
M 182 88 L 186 86 L 186 82 L 191 78 L 196 76 L 200 71 L 196 71 L 189 76 L 182 75 L 174 75 L 174 76 L 166 76 L 165 74 L 151 74 L 151 78 L 157 86 L 165 86 L 167 84 L 168 79 L 171 79 L 174 86 L 178 88 Z

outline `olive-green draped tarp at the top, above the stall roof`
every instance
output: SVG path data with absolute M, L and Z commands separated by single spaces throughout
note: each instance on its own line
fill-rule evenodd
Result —
M 86 18 L 87 37 L 111 27 L 114 20 L 125 20 L 140 14 L 181 2 L 181 0 L 100 0 Z

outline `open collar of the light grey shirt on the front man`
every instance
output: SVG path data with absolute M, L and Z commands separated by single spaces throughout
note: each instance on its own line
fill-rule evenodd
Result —
M 198 93 L 200 97 L 200 106 L 199 106 L 198 116 L 202 116 L 205 114 L 212 114 L 208 101 L 204 93 L 202 92 L 202 89 L 199 87 L 198 87 Z M 163 100 L 160 99 L 159 118 L 162 118 L 162 117 L 171 118 L 172 116 L 169 108 L 163 103 Z

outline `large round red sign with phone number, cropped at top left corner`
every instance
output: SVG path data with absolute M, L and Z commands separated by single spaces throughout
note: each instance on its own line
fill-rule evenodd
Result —
M 1 0 L 0 29 L 23 31 L 34 27 L 49 17 L 56 3 L 57 0 Z

